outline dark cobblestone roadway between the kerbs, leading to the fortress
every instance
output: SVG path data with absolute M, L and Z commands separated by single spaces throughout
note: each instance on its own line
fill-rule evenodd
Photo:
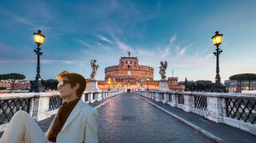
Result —
M 115 98 L 98 113 L 100 142 L 211 142 L 133 93 Z

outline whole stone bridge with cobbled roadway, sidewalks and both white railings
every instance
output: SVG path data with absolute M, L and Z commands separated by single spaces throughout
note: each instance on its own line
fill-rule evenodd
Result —
M 100 142 L 255 142 L 256 96 L 174 91 L 84 91 L 99 113 Z M 18 110 L 46 132 L 59 92 L 0 94 L 0 131 Z

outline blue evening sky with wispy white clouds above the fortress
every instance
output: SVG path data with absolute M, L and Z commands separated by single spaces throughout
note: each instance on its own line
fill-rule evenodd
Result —
M 89 78 L 90 60 L 104 69 L 121 56 L 137 56 L 154 68 L 167 61 L 167 77 L 179 81 L 210 80 L 216 75 L 216 47 L 211 37 L 223 34 L 220 77 L 256 73 L 256 1 L 1 1 L 0 74 L 36 77 L 33 33 L 46 35 L 41 45 L 42 79 L 67 70 Z

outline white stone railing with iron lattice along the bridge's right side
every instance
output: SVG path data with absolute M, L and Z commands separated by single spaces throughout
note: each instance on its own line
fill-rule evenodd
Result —
M 256 135 L 255 94 L 175 91 L 136 93 Z

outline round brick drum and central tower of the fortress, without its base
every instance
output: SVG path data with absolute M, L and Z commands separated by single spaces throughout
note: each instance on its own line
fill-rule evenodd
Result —
M 117 81 L 141 81 L 141 79 L 154 80 L 154 68 L 139 65 L 137 57 L 121 57 L 119 65 L 105 68 L 105 80 L 115 78 Z

